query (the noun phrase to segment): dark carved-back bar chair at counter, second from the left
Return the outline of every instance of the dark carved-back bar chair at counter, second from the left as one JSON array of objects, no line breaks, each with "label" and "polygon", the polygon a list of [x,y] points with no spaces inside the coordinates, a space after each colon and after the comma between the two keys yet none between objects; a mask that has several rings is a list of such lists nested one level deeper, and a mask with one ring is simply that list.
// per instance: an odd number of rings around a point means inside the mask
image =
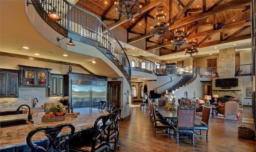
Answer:
[{"label": "dark carved-back bar chair at counter, second from the left", "polygon": [[72,152],[110,152],[110,131],[114,126],[114,114],[99,116],[94,122],[93,137],[74,143]]}]

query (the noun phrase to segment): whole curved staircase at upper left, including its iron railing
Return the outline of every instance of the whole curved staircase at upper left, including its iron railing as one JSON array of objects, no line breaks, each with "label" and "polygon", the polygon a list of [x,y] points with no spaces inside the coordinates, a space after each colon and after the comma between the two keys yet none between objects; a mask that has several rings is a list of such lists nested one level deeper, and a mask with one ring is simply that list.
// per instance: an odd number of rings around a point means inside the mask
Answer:
[{"label": "whole curved staircase at upper left, including its iron railing", "polygon": [[[32,0],[32,2],[36,4],[34,5],[36,11],[49,26],[65,37],[69,36],[76,41],[96,47],[118,67],[131,85],[130,62],[125,50],[100,18],[66,0],[44,0],[49,4],[59,4],[56,10],[66,8],[57,12],[59,16],[62,16],[61,21],[49,22],[46,20],[48,10],[44,7],[42,0]],[[78,17],[74,18],[74,16]]]}]

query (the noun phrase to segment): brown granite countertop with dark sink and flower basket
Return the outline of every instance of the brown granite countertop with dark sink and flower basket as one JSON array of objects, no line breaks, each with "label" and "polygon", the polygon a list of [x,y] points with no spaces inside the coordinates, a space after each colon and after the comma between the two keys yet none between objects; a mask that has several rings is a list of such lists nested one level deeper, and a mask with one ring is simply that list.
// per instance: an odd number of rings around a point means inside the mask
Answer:
[{"label": "brown granite countertop with dark sink and flower basket", "polygon": [[[41,126],[55,126],[62,123],[71,123],[75,126],[75,132],[80,132],[82,130],[92,128],[96,118],[99,116],[108,114],[108,112],[96,108],[74,109],[74,113],[78,112],[80,114],[78,114],[77,117],[72,117],[74,115],[68,114],[65,120],[54,122],[42,122],[42,116],[45,114],[44,112],[33,113],[32,116],[34,124],[0,128],[0,150],[26,145],[26,135],[34,128]],[[0,116],[1,121],[23,118],[28,118],[28,114]],[[41,140],[44,139],[41,138]]]}]

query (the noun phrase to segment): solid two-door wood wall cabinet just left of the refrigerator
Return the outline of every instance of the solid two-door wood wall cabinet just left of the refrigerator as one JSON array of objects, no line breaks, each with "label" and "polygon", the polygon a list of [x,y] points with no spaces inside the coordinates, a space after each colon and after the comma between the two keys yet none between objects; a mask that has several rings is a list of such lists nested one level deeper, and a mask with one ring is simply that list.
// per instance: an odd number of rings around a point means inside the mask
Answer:
[{"label": "solid two-door wood wall cabinet just left of the refrigerator", "polygon": [[51,74],[49,96],[64,96],[64,76]]}]

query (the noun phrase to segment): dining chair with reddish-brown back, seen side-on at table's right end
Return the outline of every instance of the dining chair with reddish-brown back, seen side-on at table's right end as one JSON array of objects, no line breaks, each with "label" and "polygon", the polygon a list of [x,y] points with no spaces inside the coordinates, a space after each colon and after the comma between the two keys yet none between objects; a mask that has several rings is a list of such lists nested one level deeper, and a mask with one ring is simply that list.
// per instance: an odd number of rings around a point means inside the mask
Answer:
[{"label": "dining chair with reddish-brown back, seen side-on at table's right end", "polygon": [[[212,113],[212,105],[204,104],[203,111],[202,111],[202,119],[200,124],[195,124],[195,136],[205,136],[206,140],[208,140],[209,136],[209,126],[210,126],[210,119]],[[196,130],[200,130],[200,134],[196,132]],[[206,130],[206,134],[202,134],[202,130]]]}]

